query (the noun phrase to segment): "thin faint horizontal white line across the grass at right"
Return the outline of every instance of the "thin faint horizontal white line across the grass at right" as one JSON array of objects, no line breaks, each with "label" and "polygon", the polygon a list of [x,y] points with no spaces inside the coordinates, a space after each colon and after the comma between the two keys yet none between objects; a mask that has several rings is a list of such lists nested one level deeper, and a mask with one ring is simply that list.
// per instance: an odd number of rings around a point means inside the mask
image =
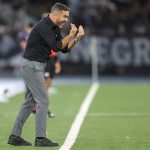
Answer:
[{"label": "thin faint horizontal white line across the grass at right", "polygon": [[126,112],[126,113],[88,113],[87,116],[98,117],[149,117],[150,113]]}]

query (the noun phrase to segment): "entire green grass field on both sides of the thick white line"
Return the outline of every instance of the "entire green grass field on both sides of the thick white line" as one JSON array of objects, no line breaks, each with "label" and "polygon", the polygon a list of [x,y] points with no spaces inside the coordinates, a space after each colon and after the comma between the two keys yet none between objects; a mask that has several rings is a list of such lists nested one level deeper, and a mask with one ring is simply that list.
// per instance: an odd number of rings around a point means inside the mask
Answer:
[{"label": "entire green grass field on both sides of the thick white line", "polygon": [[[52,95],[56,114],[47,122],[47,137],[64,143],[71,124],[90,85],[59,85]],[[23,94],[0,104],[0,150],[59,148],[14,147],[7,139],[15,121]],[[34,144],[34,115],[23,128],[22,137]],[[150,85],[101,84],[81,126],[72,150],[150,150]]]}]

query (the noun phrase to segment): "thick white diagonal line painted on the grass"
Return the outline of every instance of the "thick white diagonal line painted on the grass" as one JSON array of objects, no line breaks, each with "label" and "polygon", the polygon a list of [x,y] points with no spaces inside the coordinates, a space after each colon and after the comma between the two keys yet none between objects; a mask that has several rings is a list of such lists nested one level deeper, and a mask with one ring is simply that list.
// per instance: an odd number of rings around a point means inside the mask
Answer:
[{"label": "thick white diagonal line painted on the grass", "polygon": [[82,125],[82,122],[84,120],[84,117],[86,116],[88,109],[90,107],[90,104],[98,90],[99,84],[98,83],[94,83],[92,84],[91,88],[88,91],[87,96],[85,97],[80,110],[69,130],[69,133],[65,139],[64,144],[60,147],[59,150],[70,150],[71,147],[73,146],[73,144],[76,141],[76,138],[78,136],[78,133],[80,131],[80,127]]}]

